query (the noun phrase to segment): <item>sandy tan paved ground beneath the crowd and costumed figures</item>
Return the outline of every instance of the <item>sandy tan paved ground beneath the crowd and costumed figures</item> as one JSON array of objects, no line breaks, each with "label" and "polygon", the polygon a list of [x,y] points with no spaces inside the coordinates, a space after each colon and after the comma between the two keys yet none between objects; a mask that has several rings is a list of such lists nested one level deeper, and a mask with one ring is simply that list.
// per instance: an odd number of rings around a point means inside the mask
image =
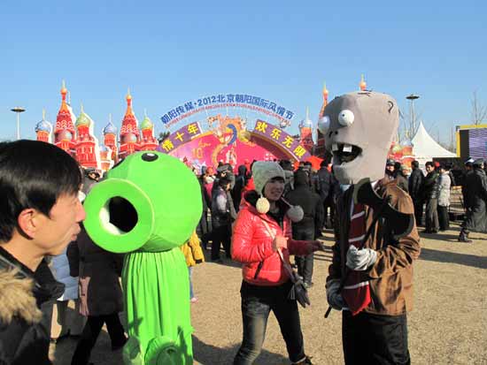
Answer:
[{"label": "sandy tan paved ground beneath the crowd and costumed figures", "polygon": [[[457,241],[459,232],[458,224],[452,224],[446,232],[421,233],[421,257],[414,262],[414,310],[408,315],[414,364],[487,364],[487,234],[471,233],[474,243],[463,244]],[[332,232],[324,232],[322,240],[327,250],[315,255],[312,305],[300,308],[305,352],[313,356],[314,364],[343,364],[341,314],[332,311],[324,318]],[[205,262],[194,269],[198,298],[191,304],[195,364],[232,363],[242,341],[241,282],[237,262]],[[74,339],[51,345],[54,364],[70,364],[75,345]],[[90,361],[122,364],[120,351],[111,351],[105,328]],[[271,315],[264,348],[255,364],[289,363],[279,326]]]}]

